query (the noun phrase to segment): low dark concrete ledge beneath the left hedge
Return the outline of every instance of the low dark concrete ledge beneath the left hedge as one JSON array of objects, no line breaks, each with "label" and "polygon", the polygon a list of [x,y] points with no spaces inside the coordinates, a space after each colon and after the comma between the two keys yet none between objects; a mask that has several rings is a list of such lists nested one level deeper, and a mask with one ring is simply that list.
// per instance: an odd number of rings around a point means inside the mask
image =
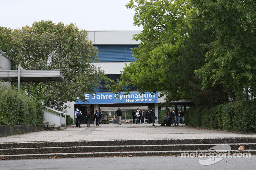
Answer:
[{"label": "low dark concrete ledge beneath the left hedge", "polygon": [[32,131],[42,131],[44,126],[29,126],[29,125],[16,125],[16,126],[0,126],[0,136],[7,136],[10,134],[21,134],[28,133]]}]

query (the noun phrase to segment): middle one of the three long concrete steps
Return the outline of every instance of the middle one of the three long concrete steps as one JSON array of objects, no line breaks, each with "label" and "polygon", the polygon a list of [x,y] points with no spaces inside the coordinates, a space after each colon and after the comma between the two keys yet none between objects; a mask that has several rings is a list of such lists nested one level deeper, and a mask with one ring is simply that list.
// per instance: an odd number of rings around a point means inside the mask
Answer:
[{"label": "middle one of the three long concrete steps", "polygon": [[[79,153],[79,152],[145,152],[145,151],[202,151],[220,144],[170,144],[170,145],[119,145],[119,146],[68,146],[41,148],[0,149],[1,155],[41,154],[41,153]],[[223,144],[222,144],[223,145]],[[226,145],[226,144],[225,144]],[[256,144],[228,144],[231,150],[237,150],[244,145],[247,150],[256,149]]]}]

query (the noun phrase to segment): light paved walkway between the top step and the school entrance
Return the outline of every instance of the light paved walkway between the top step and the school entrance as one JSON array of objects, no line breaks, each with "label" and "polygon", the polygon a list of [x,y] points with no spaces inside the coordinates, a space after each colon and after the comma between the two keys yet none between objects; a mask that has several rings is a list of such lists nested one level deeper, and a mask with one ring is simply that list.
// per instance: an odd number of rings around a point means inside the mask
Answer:
[{"label": "light paved walkway between the top step and the school entrance", "polygon": [[40,141],[94,141],[94,140],[133,140],[133,139],[191,139],[191,138],[234,138],[256,137],[256,134],[208,130],[189,126],[160,126],[152,124],[102,124],[98,127],[70,125],[63,130],[44,130],[20,135],[0,137],[0,143],[40,142]]}]

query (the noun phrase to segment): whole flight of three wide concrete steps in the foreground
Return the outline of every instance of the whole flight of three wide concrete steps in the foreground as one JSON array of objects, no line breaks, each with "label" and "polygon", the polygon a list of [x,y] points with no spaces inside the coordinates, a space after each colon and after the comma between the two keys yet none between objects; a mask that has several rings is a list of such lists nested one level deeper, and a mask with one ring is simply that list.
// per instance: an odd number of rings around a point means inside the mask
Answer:
[{"label": "whole flight of three wide concrete steps in the foreground", "polygon": [[[244,151],[238,151],[243,145]],[[223,147],[221,147],[223,146]],[[216,152],[256,154],[256,138],[198,138],[166,140],[107,140],[76,142],[0,143],[1,159],[46,159],[125,156],[180,156]],[[201,155],[202,156],[202,155]]]}]

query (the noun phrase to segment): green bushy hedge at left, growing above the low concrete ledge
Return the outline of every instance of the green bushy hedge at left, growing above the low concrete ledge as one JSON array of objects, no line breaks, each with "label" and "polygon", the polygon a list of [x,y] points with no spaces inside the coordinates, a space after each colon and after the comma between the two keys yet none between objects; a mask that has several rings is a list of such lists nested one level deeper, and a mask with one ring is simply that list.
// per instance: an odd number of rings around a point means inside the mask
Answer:
[{"label": "green bushy hedge at left, growing above the low concrete ledge", "polygon": [[43,126],[44,113],[39,101],[25,92],[0,86],[0,125]]}]

